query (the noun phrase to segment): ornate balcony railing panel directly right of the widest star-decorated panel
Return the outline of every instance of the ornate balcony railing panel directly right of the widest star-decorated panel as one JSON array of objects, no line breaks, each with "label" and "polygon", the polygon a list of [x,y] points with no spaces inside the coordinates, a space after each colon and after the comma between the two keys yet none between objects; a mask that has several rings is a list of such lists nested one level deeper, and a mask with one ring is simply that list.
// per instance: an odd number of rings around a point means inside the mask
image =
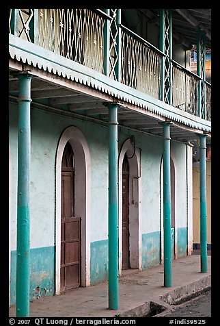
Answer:
[{"label": "ornate balcony railing panel directly right of the widest star-decorated panel", "polygon": [[160,99],[160,51],[137,34],[122,27],[122,84]]}]

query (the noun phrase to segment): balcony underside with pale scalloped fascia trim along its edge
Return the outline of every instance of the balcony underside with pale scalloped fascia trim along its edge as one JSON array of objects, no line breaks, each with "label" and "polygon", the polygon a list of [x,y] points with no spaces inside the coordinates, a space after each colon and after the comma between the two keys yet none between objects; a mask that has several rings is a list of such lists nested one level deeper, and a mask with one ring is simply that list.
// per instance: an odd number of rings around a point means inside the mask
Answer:
[{"label": "balcony underside with pale scalloped fascia trim along its edge", "polygon": [[162,136],[160,123],[172,121],[171,138],[175,140],[194,140],[201,133],[210,136],[210,121],[10,35],[11,101],[18,97],[18,79],[13,75],[16,71],[33,75],[32,108],[107,124],[108,110],[103,102],[115,101],[121,104],[118,121],[122,127]]}]

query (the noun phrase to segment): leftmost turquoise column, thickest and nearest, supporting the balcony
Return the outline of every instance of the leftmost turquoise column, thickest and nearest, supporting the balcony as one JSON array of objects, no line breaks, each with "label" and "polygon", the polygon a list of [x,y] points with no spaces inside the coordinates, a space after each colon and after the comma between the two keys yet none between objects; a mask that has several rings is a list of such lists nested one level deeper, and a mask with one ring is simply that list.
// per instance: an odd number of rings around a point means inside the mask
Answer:
[{"label": "leftmost turquoise column, thickest and nearest, supporting the balcony", "polygon": [[29,317],[29,170],[31,144],[31,76],[17,75],[18,94],[18,207],[16,249],[16,316]]}]

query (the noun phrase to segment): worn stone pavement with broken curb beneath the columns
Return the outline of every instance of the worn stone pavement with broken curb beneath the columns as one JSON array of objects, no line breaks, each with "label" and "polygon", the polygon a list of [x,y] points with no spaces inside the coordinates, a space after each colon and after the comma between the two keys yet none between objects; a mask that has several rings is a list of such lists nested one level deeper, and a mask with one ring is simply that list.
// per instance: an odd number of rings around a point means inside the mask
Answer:
[{"label": "worn stone pavement with broken curb beneath the columns", "polygon": [[[105,282],[35,300],[30,303],[30,316],[165,316],[172,310],[172,303],[211,287],[211,256],[208,255],[208,273],[200,272],[200,255],[173,260],[172,283],[171,288],[163,286],[163,265],[143,271],[129,269],[120,276],[118,310],[108,308],[108,283]],[[15,306],[10,307],[9,316],[15,316]]]}]

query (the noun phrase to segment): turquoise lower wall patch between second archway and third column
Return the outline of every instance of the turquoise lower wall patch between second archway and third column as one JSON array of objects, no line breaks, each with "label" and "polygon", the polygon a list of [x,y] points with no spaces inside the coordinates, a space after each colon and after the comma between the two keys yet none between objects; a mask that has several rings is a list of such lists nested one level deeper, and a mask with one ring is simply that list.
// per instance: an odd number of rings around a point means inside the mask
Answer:
[{"label": "turquoise lower wall patch between second archway and third column", "polygon": [[142,234],[142,268],[159,265],[161,261],[161,231]]}]

